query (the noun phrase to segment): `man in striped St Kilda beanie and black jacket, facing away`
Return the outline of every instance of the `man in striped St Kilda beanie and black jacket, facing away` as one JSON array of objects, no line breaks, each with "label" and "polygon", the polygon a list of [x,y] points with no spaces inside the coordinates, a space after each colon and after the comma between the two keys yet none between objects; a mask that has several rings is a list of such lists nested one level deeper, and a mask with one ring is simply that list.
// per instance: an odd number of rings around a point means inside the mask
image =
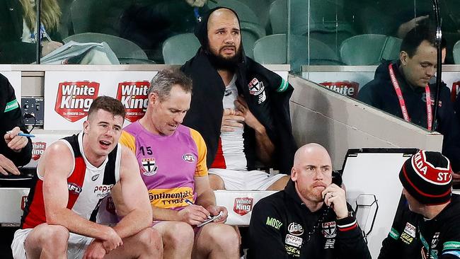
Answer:
[{"label": "man in striped St Kilda beanie and black jacket, facing away", "polygon": [[449,159],[420,150],[402,166],[403,185],[389,236],[379,259],[460,258],[460,196],[452,193]]}]

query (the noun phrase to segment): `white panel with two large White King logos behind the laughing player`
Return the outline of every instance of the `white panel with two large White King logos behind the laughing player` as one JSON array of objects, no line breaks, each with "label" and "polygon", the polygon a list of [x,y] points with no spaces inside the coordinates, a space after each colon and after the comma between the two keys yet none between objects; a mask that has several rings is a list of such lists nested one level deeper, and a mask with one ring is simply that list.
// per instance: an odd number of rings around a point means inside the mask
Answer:
[{"label": "white panel with two large White King logos behind the laughing player", "polygon": [[144,115],[147,90],[156,71],[47,71],[46,130],[79,130],[98,96],[118,98],[125,105],[125,125]]}]

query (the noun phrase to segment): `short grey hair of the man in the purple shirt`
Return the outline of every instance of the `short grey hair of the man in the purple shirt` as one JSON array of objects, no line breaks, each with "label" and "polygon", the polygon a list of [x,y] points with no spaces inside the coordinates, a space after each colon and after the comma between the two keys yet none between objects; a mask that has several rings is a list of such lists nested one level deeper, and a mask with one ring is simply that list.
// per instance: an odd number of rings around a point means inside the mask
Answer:
[{"label": "short grey hair of the man in the purple shirt", "polygon": [[178,85],[185,93],[192,92],[192,79],[179,69],[164,69],[159,71],[150,81],[150,93],[158,94],[160,101],[171,96],[171,88]]}]

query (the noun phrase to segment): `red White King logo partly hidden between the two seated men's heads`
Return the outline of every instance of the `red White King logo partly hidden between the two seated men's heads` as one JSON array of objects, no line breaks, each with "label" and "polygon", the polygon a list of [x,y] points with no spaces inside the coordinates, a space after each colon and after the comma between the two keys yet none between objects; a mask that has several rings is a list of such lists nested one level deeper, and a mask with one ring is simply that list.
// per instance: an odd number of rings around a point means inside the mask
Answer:
[{"label": "red White King logo partly hidden between the two seated men's heads", "polygon": [[149,81],[127,81],[118,84],[117,99],[126,110],[126,120],[135,122],[144,116],[148,105]]}]

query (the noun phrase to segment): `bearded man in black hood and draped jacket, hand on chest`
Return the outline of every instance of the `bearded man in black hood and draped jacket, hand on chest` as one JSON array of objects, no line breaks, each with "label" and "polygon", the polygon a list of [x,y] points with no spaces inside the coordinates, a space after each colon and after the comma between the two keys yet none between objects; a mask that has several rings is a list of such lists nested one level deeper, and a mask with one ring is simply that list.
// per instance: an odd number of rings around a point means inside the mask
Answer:
[{"label": "bearded man in black hood and draped jacket, hand on chest", "polygon": [[209,10],[195,35],[201,47],[180,68],[193,81],[183,125],[205,139],[212,188],[282,190],[297,149],[289,117],[294,88],[246,57],[235,11]]}]

